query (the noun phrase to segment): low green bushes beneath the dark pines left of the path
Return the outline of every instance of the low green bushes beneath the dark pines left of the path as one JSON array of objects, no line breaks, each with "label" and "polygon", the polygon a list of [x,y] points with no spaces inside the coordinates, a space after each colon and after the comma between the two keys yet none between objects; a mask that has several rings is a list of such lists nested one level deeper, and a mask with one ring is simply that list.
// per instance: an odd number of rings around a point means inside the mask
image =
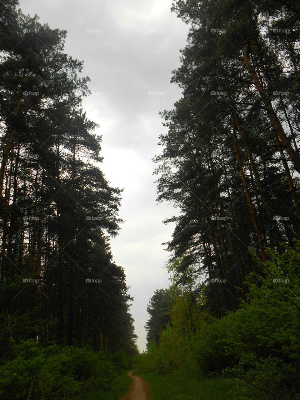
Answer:
[{"label": "low green bushes beneath the dark pines left of the path", "polygon": [[108,357],[76,347],[41,348],[34,340],[13,345],[14,358],[0,366],[0,398],[71,399],[90,390],[108,391],[118,377]]}]

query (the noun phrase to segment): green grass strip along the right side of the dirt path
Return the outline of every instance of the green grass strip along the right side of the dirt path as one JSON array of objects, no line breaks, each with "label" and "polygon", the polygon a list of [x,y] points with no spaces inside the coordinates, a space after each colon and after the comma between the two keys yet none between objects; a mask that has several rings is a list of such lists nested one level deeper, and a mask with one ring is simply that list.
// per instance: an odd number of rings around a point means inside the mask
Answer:
[{"label": "green grass strip along the right side of the dirt path", "polygon": [[150,386],[150,400],[238,400],[228,382],[218,378],[184,376],[179,372],[158,375],[134,371]]}]

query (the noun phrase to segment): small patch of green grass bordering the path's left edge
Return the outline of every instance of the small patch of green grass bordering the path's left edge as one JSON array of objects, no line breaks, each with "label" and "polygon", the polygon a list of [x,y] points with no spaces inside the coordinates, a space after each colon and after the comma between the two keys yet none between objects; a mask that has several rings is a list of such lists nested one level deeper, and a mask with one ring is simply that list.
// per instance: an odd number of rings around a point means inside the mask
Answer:
[{"label": "small patch of green grass bordering the path's left edge", "polygon": [[80,397],[74,400],[119,400],[128,391],[131,378],[122,373],[115,381],[113,390],[109,392],[99,392],[98,390],[82,393]]}]

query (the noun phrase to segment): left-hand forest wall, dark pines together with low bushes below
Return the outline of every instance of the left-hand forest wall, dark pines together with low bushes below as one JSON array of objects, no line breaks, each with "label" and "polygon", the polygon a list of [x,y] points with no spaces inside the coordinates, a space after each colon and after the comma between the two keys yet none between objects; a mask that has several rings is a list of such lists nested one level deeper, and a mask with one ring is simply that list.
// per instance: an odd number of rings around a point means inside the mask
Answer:
[{"label": "left-hand forest wall, dark pines together with low bushes below", "polygon": [[121,190],[99,166],[101,137],[82,109],[89,78],[65,38],[18,1],[0,2],[3,399],[109,391],[136,354],[132,298],[109,244]]}]

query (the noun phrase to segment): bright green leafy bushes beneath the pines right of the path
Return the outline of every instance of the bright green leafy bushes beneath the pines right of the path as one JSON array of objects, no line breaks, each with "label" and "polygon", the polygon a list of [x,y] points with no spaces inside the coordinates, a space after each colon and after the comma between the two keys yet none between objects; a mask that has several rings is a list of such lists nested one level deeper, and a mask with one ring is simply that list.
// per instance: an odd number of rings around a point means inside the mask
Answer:
[{"label": "bright green leafy bushes beneath the pines right of the path", "polygon": [[268,274],[258,262],[260,273],[250,273],[245,281],[246,301],[221,319],[207,311],[205,292],[195,298],[187,286],[170,286],[175,298],[170,324],[158,343],[153,338],[148,344],[138,368],[222,376],[232,399],[300,398],[300,307],[295,300],[300,298],[300,241],[282,254],[272,249],[266,254]]}]

